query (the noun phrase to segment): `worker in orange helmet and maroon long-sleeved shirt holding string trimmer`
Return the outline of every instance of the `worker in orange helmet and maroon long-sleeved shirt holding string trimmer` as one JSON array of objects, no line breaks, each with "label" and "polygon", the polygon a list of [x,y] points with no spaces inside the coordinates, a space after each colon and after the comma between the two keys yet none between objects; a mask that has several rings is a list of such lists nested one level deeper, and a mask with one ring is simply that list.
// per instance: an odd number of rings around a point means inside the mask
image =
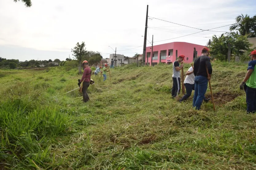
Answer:
[{"label": "worker in orange helmet and maroon long-sleeved shirt holding string trimmer", "polygon": [[90,100],[90,98],[87,94],[87,89],[90,85],[90,80],[91,80],[91,68],[88,65],[88,61],[86,61],[86,60],[83,61],[83,68],[84,68],[83,77],[81,78],[78,85],[80,86],[80,84],[83,82],[83,87],[82,87],[83,102],[87,102],[88,100]]}]

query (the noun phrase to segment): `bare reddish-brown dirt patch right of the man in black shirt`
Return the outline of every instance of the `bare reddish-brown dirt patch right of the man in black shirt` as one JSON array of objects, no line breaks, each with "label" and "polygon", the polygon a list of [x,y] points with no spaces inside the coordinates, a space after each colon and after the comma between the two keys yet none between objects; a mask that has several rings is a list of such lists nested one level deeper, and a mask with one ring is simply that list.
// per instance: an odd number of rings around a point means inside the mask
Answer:
[{"label": "bare reddish-brown dirt patch right of the man in black shirt", "polygon": [[[234,100],[236,97],[240,96],[240,93],[227,93],[227,92],[217,92],[213,93],[214,103],[218,105],[223,105]],[[206,98],[211,99],[211,95],[206,95]]]}]

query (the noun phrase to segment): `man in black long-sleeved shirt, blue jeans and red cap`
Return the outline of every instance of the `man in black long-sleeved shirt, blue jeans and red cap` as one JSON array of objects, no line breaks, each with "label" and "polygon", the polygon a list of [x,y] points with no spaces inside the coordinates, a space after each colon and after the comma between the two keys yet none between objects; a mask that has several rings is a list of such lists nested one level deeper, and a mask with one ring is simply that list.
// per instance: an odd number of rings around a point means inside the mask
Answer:
[{"label": "man in black long-sleeved shirt, blue jeans and red cap", "polygon": [[[208,68],[209,77],[207,76],[206,67]],[[204,47],[202,55],[194,62],[195,74],[195,94],[193,99],[193,107],[199,110],[204,100],[204,95],[207,90],[208,80],[211,80],[211,60],[209,58],[209,49]]]}]

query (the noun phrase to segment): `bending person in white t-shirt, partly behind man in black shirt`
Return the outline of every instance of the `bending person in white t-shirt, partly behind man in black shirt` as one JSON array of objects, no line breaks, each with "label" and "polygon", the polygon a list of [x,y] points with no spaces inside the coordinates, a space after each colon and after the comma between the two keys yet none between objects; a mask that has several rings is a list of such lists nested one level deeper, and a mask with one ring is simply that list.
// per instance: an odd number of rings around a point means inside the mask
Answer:
[{"label": "bending person in white t-shirt, partly behind man in black shirt", "polygon": [[[186,94],[180,99],[180,102],[188,99],[191,96],[192,90],[195,90],[195,74],[193,67],[190,67],[186,72],[186,78],[184,80],[184,85],[186,88]],[[205,99],[204,102],[208,102],[210,99]]]}]

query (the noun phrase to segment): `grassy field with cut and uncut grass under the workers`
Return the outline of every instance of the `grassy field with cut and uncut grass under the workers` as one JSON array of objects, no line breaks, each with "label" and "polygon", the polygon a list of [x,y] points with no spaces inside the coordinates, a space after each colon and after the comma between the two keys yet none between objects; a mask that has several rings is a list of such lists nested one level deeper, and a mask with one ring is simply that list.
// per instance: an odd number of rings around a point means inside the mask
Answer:
[{"label": "grassy field with cut and uncut grass under the workers", "polygon": [[239,90],[247,67],[212,65],[215,112],[171,98],[171,65],[92,76],[87,103],[58,97],[78,87],[77,69],[1,70],[0,169],[256,169],[256,115]]}]

